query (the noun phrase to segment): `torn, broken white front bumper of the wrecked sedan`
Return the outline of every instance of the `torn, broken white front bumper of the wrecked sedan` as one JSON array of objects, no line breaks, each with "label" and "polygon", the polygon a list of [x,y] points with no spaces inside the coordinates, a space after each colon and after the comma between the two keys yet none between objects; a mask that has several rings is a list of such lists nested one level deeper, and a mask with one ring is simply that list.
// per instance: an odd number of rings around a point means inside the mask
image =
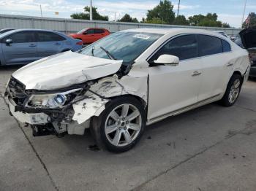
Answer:
[{"label": "torn, broken white front bumper of the wrecked sedan", "polygon": [[99,116],[108,100],[98,96],[91,96],[72,105],[72,109],[43,111],[45,109],[29,109],[19,106],[10,95],[5,96],[10,114],[19,122],[37,126],[38,128],[51,127],[53,133],[67,132],[69,135],[83,135],[84,130],[90,127],[92,116]]}]

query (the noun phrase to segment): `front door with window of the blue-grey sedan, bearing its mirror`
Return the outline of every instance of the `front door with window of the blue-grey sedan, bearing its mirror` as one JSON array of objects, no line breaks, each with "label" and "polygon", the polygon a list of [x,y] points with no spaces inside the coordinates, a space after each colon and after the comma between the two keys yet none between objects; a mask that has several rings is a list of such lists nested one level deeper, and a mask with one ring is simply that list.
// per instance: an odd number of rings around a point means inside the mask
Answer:
[{"label": "front door with window of the blue-grey sedan, bearing its mirror", "polygon": [[[11,39],[12,43],[6,44]],[[34,31],[20,31],[2,39],[2,50],[6,64],[25,64],[38,59]]]}]

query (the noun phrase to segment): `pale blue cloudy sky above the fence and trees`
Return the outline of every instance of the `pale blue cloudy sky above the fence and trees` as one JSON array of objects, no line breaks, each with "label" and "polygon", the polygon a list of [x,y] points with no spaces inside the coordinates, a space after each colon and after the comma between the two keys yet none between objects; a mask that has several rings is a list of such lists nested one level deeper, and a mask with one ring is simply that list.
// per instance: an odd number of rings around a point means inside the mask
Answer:
[{"label": "pale blue cloudy sky above the fence and trees", "polygon": [[[245,0],[181,0],[179,15],[206,15],[216,12],[218,20],[229,23],[233,27],[241,27]],[[40,16],[42,7],[43,17],[69,18],[72,13],[83,12],[83,7],[89,5],[89,0],[0,0],[0,14]],[[159,0],[93,0],[93,6],[98,8],[101,15],[108,15],[114,20],[128,13],[141,20],[146,17],[148,9],[159,4]],[[177,12],[178,0],[173,0],[174,11]],[[55,15],[59,12],[59,15]],[[244,20],[249,12],[256,12],[256,1],[247,0]]]}]

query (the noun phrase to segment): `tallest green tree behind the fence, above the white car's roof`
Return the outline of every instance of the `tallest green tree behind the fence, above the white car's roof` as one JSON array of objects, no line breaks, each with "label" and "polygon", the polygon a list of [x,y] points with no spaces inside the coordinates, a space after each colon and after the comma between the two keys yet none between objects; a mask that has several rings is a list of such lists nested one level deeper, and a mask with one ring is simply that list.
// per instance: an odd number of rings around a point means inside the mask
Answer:
[{"label": "tallest green tree behind the fence, above the white car's roof", "polygon": [[146,23],[152,23],[153,21],[172,24],[175,19],[175,12],[173,12],[173,5],[169,0],[161,0],[157,7],[148,10]]}]

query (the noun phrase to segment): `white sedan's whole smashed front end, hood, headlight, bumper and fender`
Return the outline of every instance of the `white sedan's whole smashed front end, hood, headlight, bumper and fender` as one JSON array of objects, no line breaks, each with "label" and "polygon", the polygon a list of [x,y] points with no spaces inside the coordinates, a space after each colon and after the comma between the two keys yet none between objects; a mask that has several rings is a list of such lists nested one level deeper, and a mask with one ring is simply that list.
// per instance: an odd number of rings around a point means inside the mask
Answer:
[{"label": "white sedan's whole smashed front end, hood, headlight, bumper and fender", "polygon": [[31,63],[15,71],[5,98],[10,114],[31,125],[34,135],[83,135],[92,117],[120,95],[147,101],[148,72],[123,61],[67,52]]}]

